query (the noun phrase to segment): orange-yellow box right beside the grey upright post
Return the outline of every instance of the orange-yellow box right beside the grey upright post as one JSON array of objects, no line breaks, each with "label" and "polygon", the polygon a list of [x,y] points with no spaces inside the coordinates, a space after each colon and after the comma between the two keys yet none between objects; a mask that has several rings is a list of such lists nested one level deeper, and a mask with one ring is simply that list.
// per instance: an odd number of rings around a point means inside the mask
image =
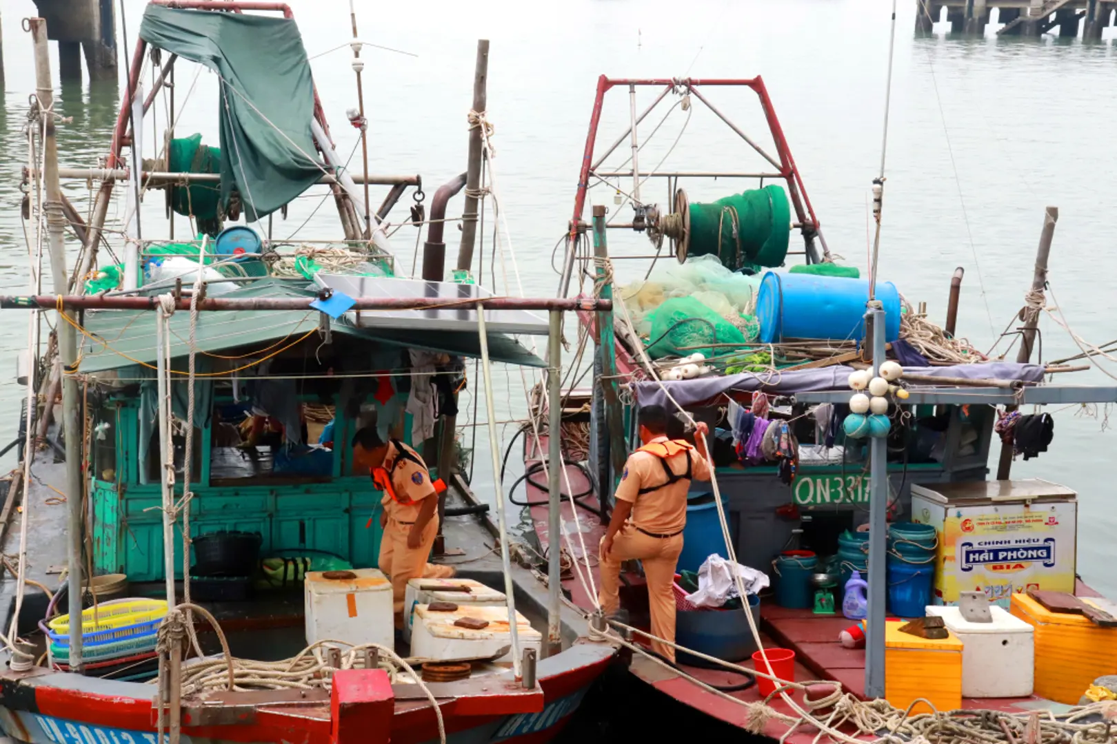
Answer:
[{"label": "orange-yellow box right beside the grey upright post", "polygon": [[[962,707],[962,641],[953,632],[942,639],[900,631],[903,622],[885,624],[885,697],[900,709],[918,697],[941,713]],[[925,704],[909,715],[932,713]]]}]

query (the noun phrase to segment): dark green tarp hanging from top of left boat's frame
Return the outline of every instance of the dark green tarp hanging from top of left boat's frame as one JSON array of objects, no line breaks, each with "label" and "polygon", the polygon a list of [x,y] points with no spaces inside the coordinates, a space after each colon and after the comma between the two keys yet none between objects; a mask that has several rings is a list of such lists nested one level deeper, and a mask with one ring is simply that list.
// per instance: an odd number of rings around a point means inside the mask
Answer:
[{"label": "dark green tarp hanging from top of left boat's frame", "polygon": [[220,76],[222,207],[236,186],[252,222],[317,182],[314,83],[294,20],[150,4],[140,38]]}]

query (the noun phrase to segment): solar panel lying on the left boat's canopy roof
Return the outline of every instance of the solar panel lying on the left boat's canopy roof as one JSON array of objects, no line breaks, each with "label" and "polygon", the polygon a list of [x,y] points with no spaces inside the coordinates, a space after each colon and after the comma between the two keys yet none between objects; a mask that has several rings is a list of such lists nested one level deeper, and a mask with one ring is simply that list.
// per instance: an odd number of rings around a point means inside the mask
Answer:
[{"label": "solar panel lying on the left boat's canopy roof", "polygon": [[[477,308],[469,300],[493,297],[477,284],[422,279],[315,274],[315,282],[352,298],[437,298],[462,301],[461,307],[422,310],[350,310],[349,320],[359,328],[413,328],[416,330],[477,331]],[[499,334],[546,336],[547,319],[526,310],[486,310],[486,329]]]}]

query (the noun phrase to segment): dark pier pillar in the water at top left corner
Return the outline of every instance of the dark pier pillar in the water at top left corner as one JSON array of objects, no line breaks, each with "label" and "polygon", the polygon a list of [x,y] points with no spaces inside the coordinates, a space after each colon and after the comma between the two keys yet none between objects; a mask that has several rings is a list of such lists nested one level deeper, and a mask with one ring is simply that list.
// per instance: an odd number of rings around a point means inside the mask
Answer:
[{"label": "dark pier pillar in the water at top left corner", "polygon": [[[116,77],[114,0],[35,0],[35,4],[47,21],[50,40],[58,42],[59,79],[82,79],[83,54],[90,80]],[[0,80],[2,68],[0,57]]]}]

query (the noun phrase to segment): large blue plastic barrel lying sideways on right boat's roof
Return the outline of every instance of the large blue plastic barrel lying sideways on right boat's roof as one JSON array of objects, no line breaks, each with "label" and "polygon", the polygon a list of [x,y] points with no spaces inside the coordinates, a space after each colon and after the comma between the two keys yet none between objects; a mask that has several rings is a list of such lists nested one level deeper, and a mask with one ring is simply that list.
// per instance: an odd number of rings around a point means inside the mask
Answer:
[{"label": "large blue plastic barrel lying sideways on right boat's roof", "polygon": [[[877,282],[877,299],[885,303],[887,341],[900,336],[900,293],[890,281]],[[756,294],[760,340],[783,338],[865,338],[865,303],[869,280],[768,271]]]}]

